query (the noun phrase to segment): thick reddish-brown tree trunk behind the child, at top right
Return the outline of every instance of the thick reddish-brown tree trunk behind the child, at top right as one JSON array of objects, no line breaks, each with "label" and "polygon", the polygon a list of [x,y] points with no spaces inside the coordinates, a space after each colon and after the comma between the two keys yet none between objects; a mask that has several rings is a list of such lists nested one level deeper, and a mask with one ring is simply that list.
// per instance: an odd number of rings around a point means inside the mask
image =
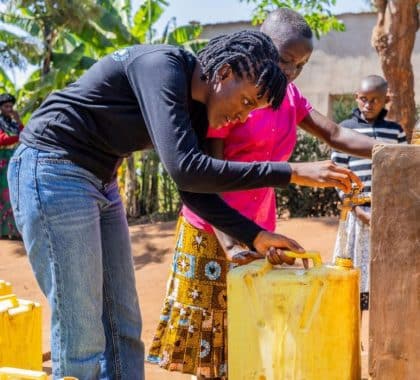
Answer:
[{"label": "thick reddish-brown tree trunk behind the child, at top right", "polygon": [[419,28],[419,0],[375,0],[378,19],[372,45],[379,54],[391,98],[388,118],[410,138],[416,113],[411,54]]}]

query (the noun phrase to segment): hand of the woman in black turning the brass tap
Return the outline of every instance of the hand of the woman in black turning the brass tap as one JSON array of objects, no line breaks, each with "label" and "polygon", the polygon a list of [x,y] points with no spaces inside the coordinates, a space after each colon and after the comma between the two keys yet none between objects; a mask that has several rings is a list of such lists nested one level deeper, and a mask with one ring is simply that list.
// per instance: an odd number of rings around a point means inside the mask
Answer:
[{"label": "hand of the woman in black turning the brass tap", "polygon": [[292,168],[291,183],[300,186],[337,187],[345,193],[352,189],[355,183],[360,189],[362,181],[351,170],[340,167],[332,161],[290,163]]}]

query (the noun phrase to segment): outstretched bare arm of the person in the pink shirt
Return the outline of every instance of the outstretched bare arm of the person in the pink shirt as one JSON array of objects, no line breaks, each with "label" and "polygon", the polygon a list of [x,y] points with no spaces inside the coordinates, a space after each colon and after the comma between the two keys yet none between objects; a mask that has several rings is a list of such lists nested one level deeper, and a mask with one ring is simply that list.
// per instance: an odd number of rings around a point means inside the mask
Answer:
[{"label": "outstretched bare arm of the person in the pink shirt", "polygon": [[349,128],[340,127],[316,110],[309,112],[299,126],[336,150],[357,157],[372,157],[375,139]]}]

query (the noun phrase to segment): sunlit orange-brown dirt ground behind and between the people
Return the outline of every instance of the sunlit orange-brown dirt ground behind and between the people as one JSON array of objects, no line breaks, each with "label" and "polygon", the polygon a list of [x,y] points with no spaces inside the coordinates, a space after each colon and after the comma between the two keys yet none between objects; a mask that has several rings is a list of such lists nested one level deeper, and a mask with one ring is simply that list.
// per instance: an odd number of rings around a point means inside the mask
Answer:
[{"label": "sunlit orange-brown dirt ground behind and between the people", "polygon": [[[321,252],[324,261],[329,261],[337,231],[337,219],[313,218],[290,219],[278,222],[277,231],[294,238],[308,250]],[[174,245],[174,222],[135,225],[130,227],[133,244],[137,291],[143,315],[143,340],[149,347],[159,318],[161,302]],[[0,279],[13,285],[19,298],[39,301],[44,307],[43,351],[49,351],[50,312],[45,297],[39,290],[29,266],[21,242],[0,240]],[[363,377],[367,377],[367,328],[362,331]],[[45,362],[50,372],[50,362]],[[168,373],[157,366],[146,364],[147,380],[186,380],[190,376]]]}]

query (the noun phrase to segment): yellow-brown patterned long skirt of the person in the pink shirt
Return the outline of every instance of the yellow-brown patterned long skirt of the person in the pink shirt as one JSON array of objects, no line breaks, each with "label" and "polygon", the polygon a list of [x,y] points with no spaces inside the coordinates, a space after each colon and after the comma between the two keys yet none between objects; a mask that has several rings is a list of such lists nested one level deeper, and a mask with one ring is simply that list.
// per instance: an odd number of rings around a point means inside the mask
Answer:
[{"label": "yellow-brown patterned long skirt of the person in the pink shirt", "polygon": [[229,267],[215,235],[193,227],[181,217],[149,362],[169,371],[226,378]]}]

